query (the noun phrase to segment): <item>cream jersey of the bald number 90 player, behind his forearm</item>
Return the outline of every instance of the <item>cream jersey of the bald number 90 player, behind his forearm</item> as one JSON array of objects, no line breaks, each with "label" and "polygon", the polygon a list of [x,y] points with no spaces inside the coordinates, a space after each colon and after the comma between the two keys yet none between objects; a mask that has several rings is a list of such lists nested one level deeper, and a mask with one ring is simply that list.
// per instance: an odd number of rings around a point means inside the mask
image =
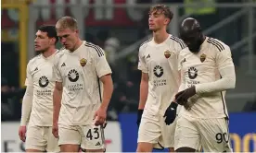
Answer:
[{"label": "cream jersey of the bald number 90 player, behind his forearm", "polygon": [[[179,56],[179,69],[186,88],[214,82],[221,78],[219,70],[234,66],[229,47],[224,42],[207,37],[198,53],[185,51]],[[180,114],[194,118],[228,117],[225,91],[196,94],[188,99],[191,110],[182,107]]]}]

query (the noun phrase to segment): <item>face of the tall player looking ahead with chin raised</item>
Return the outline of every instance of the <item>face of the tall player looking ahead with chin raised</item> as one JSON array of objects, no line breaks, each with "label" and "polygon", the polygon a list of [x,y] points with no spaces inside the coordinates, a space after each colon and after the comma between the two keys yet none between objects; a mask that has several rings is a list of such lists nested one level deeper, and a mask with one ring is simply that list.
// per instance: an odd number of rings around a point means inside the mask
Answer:
[{"label": "face of the tall player looking ahead with chin raised", "polygon": [[164,14],[160,10],[153,11],[149,13],[148,18],[148,27],[153,31],[157,31],[162,29],[166,25],[168,25],[169,19],[165,18]]}]

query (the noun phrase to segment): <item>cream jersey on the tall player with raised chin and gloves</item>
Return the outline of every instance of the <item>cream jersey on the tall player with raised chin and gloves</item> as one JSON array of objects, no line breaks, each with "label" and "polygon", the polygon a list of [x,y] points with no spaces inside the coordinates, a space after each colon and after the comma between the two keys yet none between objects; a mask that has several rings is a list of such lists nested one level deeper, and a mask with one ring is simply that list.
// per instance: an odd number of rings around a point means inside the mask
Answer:
[{"label": "cream jersey on the tall player with raised chin and gloves", "polygon": [[186,44],[173,35],[160,44],[146,41],[139,48],[138,69],[149,76],[145,112],[163,115],[174,99],[179,88],[178,54],[183,49]]}]

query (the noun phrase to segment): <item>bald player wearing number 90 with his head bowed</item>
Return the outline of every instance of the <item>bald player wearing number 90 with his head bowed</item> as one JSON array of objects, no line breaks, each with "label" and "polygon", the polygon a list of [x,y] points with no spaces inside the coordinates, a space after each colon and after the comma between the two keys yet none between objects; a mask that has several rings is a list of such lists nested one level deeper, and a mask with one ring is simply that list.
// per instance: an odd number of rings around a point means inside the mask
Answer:
[{"label": "bald player wearing number 90 with his head bowed", "polygon": [[189,51],[179,55],[181,88],[175,95],[182,107],[175,129],[175,150],[232,152],[228,132],[225,90],[235,88],[236,74],[230,48],[205,36],[195,18],[186,18],[180,38]]}]

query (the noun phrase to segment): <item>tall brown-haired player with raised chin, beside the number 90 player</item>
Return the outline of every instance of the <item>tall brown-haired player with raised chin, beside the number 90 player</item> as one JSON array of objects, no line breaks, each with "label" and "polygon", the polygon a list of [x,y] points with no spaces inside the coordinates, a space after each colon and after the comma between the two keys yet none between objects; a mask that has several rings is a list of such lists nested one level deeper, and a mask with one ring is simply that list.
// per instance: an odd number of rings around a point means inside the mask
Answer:
[{"label": "tall brown-haired player with raised chin, beside the number 90 player", "polygon": [[[166,125],[164,117],[178,92],[178,54],[186,49],[186,44],[167,33],[172,18],[173,12],[167,6],[152,6],[148,26],[153,31],[153,39],[142,43],[139,48],[138,69],[142,76],[137,152],[151,152],[153,148],[164,147],[173,152],[175,124]],[[176,110],[177,105],[172,103],[171,107]]]}]

